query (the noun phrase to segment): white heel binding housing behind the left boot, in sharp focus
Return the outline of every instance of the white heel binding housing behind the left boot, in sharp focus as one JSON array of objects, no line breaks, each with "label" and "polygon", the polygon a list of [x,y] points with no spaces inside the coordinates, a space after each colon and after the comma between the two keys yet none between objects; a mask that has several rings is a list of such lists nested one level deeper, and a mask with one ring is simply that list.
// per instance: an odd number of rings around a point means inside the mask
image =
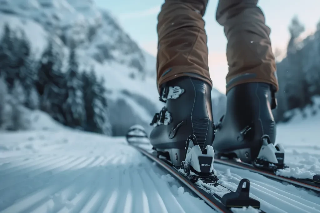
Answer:
[{"label": "white heel binding housing behind the left boot, in sharp focus", "polygon": [[[191,145],[192,144],[192,145]],[[206,148],[206,154],[202,154],[201,148],[199,145],[193,146],[193,143],[189,143],[187,155],[185,161],[189,163],[192,168],[198,172],[201,172],[200,163],[199,163],[199,156],[200,157],[212,157],[212,161],[208,162],[207,164],[202,164],[202,166],[210,166],[209,172],[211,173],[213,170],[213,159],[214,159],[214,151],[213,147],[210,145],[207,145]]]}]

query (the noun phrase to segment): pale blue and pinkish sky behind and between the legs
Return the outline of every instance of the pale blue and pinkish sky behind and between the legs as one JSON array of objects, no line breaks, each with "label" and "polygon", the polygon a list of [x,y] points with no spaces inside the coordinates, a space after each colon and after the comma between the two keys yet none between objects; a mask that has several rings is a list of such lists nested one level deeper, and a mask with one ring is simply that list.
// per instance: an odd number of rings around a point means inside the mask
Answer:
[{"label": "pale blue and pinkish sky behind and between the legs", "polygon": [[[95,0],[103,8],[111,11],[124,30],[140,47],[156,56],[157,14],[164,0]],[[228,72],[226,61],[227,40],[223,28],[216,22],[215,13],[218,0],[209,0],[204,20],[208,35],[209,68],[214,87],[225,92],[225,77]],[[271,28],[273,48],[285,49],[288,39],[288,25],[294,15],[305,24],[306,33],[316,29],[320,19],[320,0],[260,0],[259,5]]]}]

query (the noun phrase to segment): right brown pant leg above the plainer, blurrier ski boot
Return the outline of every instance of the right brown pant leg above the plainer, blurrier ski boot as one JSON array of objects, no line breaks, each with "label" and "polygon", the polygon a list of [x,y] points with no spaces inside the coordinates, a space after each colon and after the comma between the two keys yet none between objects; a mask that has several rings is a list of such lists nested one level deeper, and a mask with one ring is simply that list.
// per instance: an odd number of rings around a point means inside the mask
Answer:
[{"label": "right brown pant leg above the plainer, blurrier ski boot", "polygon": [[220,0],[216,19],[228,39],[227,92],[248,82],[265,82],[278,91],[275,57],[271,50],[270,28],[257,6],[258,0]]}]

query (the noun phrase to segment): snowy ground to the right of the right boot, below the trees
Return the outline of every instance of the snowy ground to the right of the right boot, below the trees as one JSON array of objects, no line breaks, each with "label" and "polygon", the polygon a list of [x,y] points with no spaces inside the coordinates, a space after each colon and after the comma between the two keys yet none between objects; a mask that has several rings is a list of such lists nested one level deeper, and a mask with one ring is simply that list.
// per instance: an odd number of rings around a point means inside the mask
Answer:
[{"label": "snowy ground to the right of the right boot, below the trees", "polygon": [[[278,174],[297,178],[311,178],[320,174],[319,102],[320,98],[316,98],[315,106],[304,110],[307,118],[296,112],[296,116],[286,125],[278,125],[276,141],[284,145],[287,153],[285,163],[290,166]],[[314,111],[316,115],[312,115]]]}]

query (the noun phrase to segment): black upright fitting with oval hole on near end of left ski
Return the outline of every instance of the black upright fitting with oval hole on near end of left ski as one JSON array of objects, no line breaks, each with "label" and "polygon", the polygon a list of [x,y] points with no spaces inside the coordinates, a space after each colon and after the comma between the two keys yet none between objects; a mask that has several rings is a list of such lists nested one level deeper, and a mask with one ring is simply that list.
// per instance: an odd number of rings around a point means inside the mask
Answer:
[{"label": "black upright fitting with oval hole on near end of left ski", "polygon": [[228,208],[253,207],[260,209],[260,202],[249,197],[250,180],[242,179],[235,192],[223,195],[222,203]]}]

